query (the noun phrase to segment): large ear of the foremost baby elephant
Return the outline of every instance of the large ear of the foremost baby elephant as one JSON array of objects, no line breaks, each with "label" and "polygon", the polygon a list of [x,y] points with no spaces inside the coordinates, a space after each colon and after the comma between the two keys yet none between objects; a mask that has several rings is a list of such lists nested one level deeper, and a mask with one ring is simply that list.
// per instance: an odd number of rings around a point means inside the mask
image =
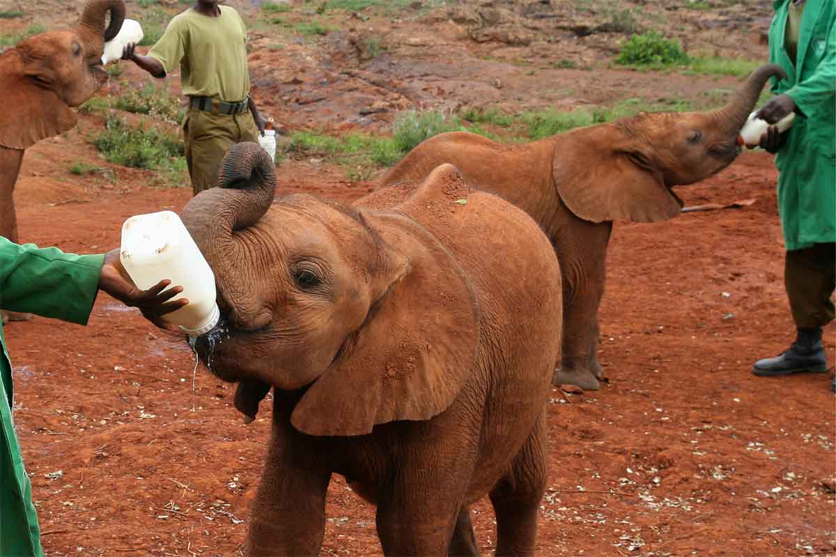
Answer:
[{"label": "large ear of the foremost baby elephant", "polygon": [[[364,435],[448,408],[476,362],[477,298],[451,253],[414,220],[378,214],[380,297],[293,410],[308,435]],[[382,271],[380,271],[382,269]]]}]

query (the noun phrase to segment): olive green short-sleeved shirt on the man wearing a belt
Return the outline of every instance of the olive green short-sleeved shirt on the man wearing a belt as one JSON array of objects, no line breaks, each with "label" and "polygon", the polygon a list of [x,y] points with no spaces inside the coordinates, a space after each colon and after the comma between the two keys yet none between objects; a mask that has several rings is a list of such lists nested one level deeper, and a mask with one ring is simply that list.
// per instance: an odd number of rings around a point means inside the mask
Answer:
[{"label": "olive green short-sleeved shirt on the man wearing a belt", "polygon": [[166,73],[180,66],[183,94],[237,103],[250,93],[247,29],[234,8],[218,8],[217,18],[193,8],[176,15],[148,55]]}]

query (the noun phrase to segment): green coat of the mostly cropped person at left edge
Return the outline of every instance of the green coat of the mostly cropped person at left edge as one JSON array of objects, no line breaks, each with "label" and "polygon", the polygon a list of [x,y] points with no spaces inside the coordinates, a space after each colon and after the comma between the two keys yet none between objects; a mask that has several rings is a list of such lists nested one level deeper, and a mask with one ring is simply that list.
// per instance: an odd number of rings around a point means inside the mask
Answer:
[{"label": "green coat of the mostly cropped person at left edge", "polygon": [[[18,246],[0,236],[0,308],[87,323],[104,256]],[[12,418],[12,365],[0,324],[0,555],[41,557],[32,489]]]}]

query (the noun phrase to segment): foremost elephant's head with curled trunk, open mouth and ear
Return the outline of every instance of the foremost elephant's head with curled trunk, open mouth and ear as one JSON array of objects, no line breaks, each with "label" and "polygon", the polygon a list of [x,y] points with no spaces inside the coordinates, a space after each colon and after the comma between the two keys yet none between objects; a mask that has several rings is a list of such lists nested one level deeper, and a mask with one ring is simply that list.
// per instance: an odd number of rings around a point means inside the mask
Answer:
[{"label": "foremost elephant's head with curled trunk, open mouth and ear", "polygon": [[240,383],[239,410],[253,418],[270,386],[301,390],[294,427],[359,435],[452,403],[476,357],[478,310],[441,243],[394,211],[308,195],[273,203],[275,167],[257,144],[233,146],[218,186],[181,216],[215,271],[222,310],[196,350],[217,377]]}]

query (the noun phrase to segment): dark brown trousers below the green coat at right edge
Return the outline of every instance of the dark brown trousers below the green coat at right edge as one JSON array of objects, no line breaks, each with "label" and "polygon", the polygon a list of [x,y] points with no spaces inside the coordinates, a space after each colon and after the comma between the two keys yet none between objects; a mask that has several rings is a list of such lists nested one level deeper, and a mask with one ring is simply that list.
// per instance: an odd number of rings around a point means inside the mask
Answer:
[{"label": "dark brown trousers below the green coat at right edge", "polygon": [[832,297],[836,288],[836,243],[788,251],[784,286],[796,327],[817,329],[832,322],[836,316]]}]

